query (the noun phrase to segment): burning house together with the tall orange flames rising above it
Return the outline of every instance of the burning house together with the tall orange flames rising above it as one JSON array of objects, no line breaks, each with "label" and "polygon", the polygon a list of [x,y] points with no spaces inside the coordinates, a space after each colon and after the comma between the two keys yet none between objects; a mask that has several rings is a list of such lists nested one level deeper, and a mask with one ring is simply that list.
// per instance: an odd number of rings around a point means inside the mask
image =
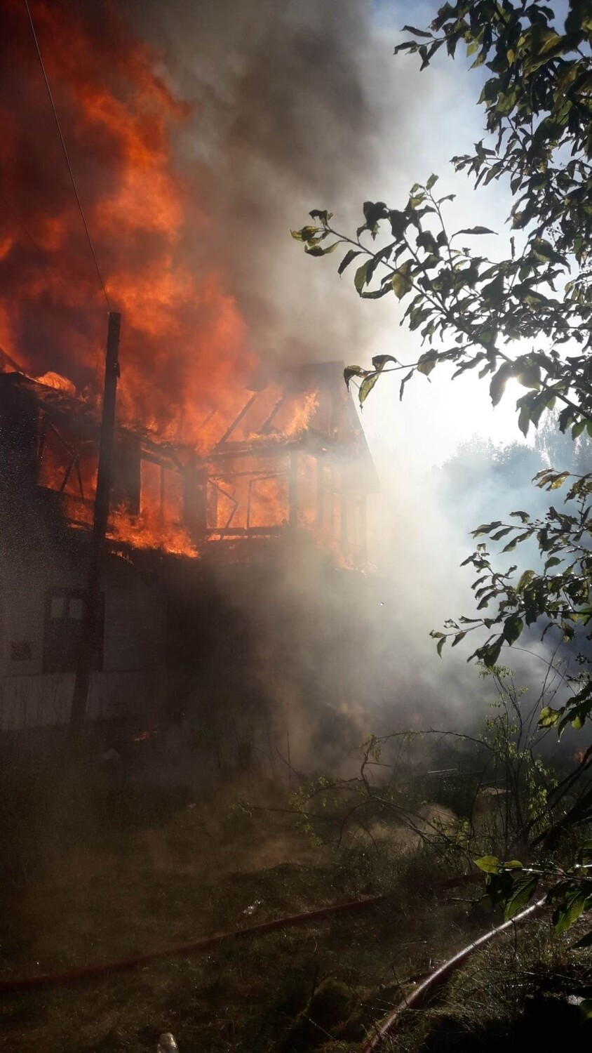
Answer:
[{"label": "burning house together with the tall orange flames rising above it", "polygon": [[[264,243],[259,173],[257,210],[229,207],[245,174],[233,122],[196,153],[222,131],[218,93],[202,99],[205,81],[138,32],[146,5],[34,6],[39,47],[23,5],[4,4],[0,67],[0,730],[67,723],[97,607],[88,721],[140,734],[192,713],[203,732],[216,714],[242,750],[249,714],[347,708],[364,676],[344,612],[367,581],[371,458],[341,365],[286,367],[314,357],[318,327],[283,321],[284,220],[275,207]],[[105,301],[123,367],[101,595],[85,604]]]}]

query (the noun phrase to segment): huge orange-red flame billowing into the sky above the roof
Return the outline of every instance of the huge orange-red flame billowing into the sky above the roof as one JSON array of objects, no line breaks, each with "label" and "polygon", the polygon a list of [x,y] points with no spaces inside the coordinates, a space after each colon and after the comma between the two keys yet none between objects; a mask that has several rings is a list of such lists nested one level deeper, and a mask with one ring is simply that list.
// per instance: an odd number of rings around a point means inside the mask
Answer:
[{"label": "huge orange-red flame billowing into the sky above the roof", "polygon": [[[3,7],[0,345],[44,383],[61,374],[81,390],[99,379],[105,304],[22,4]],[[204,418],[256,359],[224,274],[200,258],[211,220],[199,173],[176,170],[175,137],[192,107],[156,76],[160,57],[116,5],[37,0],[33,14],[106,292],[123,315],[120,420],[203,449]]]}]

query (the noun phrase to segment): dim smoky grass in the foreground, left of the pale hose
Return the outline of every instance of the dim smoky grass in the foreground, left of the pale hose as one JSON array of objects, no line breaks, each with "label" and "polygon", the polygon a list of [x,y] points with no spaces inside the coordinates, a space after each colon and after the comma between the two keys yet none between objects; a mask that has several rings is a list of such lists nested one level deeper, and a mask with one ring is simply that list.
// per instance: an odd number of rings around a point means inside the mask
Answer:
[{"label": "dim smoky grass in the foreground, left of the pale hose", "polygon": [[[380,907],[0,1000],[0,1049],[356,1050],[409,978],[487,925],[396,839],[313,847],[286,787],[157,761],[2,776],[0,975],[108,961],[386,891]],[[254,806],[238,806],[247,798]],[[257,907],[251,916],[243,912]]]}]

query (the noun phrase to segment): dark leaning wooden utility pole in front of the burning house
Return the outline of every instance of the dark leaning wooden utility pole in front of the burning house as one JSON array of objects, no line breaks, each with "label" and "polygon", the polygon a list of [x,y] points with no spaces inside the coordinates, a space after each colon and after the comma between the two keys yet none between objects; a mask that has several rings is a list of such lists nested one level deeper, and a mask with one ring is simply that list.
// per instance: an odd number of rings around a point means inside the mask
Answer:
[{"label": "dark leaning wooden utility pole in front of the burning house", "polygon": [[101,578],[105,555],[107,519],[109,516],[117,382],[120,375],[120,326],[121,315],[117,311],[109,311],[107,351],[105,355],[105,386],[99,443],[99,466],[97,472],[97,492],[95,495],[95,514],[93,517],[93,537],[90,541],[90,564],[88,568],[88,584],[86,587],[78,665],[69,717],[70,737],[73,739],[80,736],[86,716],[90,672],[100,628]]}]

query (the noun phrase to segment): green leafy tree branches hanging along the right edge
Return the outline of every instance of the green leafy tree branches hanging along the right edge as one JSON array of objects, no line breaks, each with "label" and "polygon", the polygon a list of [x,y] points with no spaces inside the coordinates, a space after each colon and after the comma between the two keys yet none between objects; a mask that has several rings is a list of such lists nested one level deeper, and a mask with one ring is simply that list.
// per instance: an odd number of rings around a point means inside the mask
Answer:
[{"label": "green leafy tree branches hanging along the right edge", "polygon": [[[401,397],[416,375],[427,377],[451,364],[453,377],[477,370],[487,378],[495,405],[510,378],[525,389],[516,410],[526,435],[549,411],[558,429],[573,439],[592,437],[592,5],[569,0],[565,19],[553,6],[530,0],[458,0],[443,4],[427,29],[405,26],[409,39],[395,53],[419,55],[422,68],[445,48],[454,57],[464,47],[472,67],[487,78],[478,103],[484,107],[486,136],[470,155],[454,157],[457,172],[475,186],[507,180],[512,195],[507,253],[487,255],[482,238],[487,226],[450,232],[447,201],[437,194],[437,176],[415,183],[400,207],[383,201],[364,203],[356,232],[340,232],[330,212],[314,210],[311,222],[293,237],[305,252],[321,257],[344,250],[339,274],[355,261],[353,284],[365,299],[395,296],[405,305],[403,321],[416,332],[422,353],[403,363],[391,355],[372,366],[349,365],[345,381],[359,384],[364,403],[382,374],[401,372]],[[488,240],[487,244],[495,244]],[[498,240],[503,245],[504,241]],[[451,619],[433,632],[442,654],[447,641],[461,643],[468,633],[489,636],[471,658],[495,665],[504,644],[514,643],[525,627],[539,625],[572,640],[576,631],[592,638],[592,473],[545,468],[535,484],[554,494],[567,489],[567,505],[551,505],[539,517],[516,510],[507,519],[484,523],[475,539],[504,541],[511,553],[534,540],[543,565],[516,575],[516,567],[498,571],[485,541],[478,540],[467,563],[478,573],[473,589],[476,617]],[[580,683],[557,709],[546,708],[543,727],[559,733],[571,722],[579,729],[592,713],[592,677],[581,656]],[[581,771],[592,764],[584,753]],[[592,791],[584,793],[571,821],[592,817]],[[565,878],[566,895],[577,914],[592,905],[583,888],[592,849],[585,847],[577,868]],[[515,860],[493,860],[492,880],[514,889],[522,878]],[[502,876],[501,876],[502,875]],[[577,876],[579,875],[579,876]],[[527,874],[514,907],[533,894],[535,874]],[[509,882],[509,883],[508,883]],[[575,882],[575,883],[574,883]],[[497,888],[497,886],[496,886]],[[565,890],[564,890],[565,891]],[[512,892],[514,895],[514,892]],[[562,907],[564,905],[564,907]],[[565,908],[565,909],[564,909]],[[563,913],[562,913],[563,911]]]}]

